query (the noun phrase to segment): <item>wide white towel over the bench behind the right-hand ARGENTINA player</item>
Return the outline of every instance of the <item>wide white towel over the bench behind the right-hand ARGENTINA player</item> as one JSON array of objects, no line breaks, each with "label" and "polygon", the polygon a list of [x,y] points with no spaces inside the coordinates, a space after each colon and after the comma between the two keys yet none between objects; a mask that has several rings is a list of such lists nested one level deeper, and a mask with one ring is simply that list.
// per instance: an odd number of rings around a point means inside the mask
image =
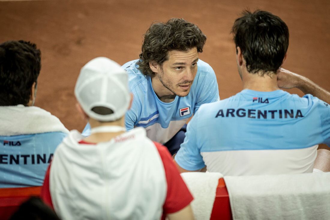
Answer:
[{"label": "wide white towel over the bench behind the right-hand ARGENTINA player", "polygon": [[224,177],[234,220],[330,219],[330,173]]}]

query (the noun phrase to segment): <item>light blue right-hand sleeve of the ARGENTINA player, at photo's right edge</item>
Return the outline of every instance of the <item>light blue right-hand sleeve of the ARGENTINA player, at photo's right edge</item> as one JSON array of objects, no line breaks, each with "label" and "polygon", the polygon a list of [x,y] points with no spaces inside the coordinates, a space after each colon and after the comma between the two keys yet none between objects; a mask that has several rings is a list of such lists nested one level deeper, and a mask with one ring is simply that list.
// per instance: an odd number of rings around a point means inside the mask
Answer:
[{"label": "light blue right-hand sleeve of the ARGENTINA player, at photo's right edge", "polygon": [[330,104],[313,96],[320,114],[323,143],[330,147]]}]

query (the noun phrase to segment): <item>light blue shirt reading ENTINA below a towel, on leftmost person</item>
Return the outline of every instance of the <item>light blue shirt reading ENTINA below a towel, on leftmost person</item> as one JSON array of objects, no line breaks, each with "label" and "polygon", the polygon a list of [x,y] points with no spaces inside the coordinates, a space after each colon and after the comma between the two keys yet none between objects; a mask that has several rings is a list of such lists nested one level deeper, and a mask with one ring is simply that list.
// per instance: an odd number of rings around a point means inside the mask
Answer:
[{"label": "light blue shirt reading ENTINA below a towel, on leftmost person", "polygon": [[0,188],[42,186],[53,153],[65,136],[63,132],[0,136]]}]

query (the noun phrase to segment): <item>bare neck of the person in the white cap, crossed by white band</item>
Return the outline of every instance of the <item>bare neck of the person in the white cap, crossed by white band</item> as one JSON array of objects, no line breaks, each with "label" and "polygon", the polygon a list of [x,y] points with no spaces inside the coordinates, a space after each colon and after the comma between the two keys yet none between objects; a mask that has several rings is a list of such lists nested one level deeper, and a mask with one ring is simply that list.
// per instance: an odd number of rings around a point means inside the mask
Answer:
[{"label": "bare neck of the person in the white cap, crossed by white band", "polygon": [[[89,119],[88,120],[90,127],[99,127],[99,126],[120,126],[120,127],[125,127],[125,117],[120,118],[119,120],[115,122],[99,122],[94,119]],[[125,131],[118,131],[118,132],[102,132],[102,133],[93,133],[90,136],[84,138],[83,140],[86,142],[91,142],[91,143],[99,143],[99,142],[106,142],[110,141],[114,137],[125,133]]]}]

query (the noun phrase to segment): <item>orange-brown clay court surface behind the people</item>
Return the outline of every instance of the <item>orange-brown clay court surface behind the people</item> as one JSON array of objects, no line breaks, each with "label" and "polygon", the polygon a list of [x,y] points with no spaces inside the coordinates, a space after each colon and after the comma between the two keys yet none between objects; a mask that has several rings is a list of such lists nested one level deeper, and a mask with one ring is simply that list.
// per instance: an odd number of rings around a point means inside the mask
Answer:
[{"label": "orange-brown clay court surface behind the people", "polygon": [[[26,40],[42,52],[36,106],[69,129],[86,124],[75,108],[74,86],[82,66],[105,56],[119,64],[137,59],[142,35],[154,21],[173,17],[195,23],[207,35],[199,56],[215,70],[220,98],[238,93],[234,20],[249,8],[276,14],[290,31],[283,67],[330,90],[329,0],[75,0],[0,1],[0,41]],[[290,93],[303,95],[299,90]]]}]

